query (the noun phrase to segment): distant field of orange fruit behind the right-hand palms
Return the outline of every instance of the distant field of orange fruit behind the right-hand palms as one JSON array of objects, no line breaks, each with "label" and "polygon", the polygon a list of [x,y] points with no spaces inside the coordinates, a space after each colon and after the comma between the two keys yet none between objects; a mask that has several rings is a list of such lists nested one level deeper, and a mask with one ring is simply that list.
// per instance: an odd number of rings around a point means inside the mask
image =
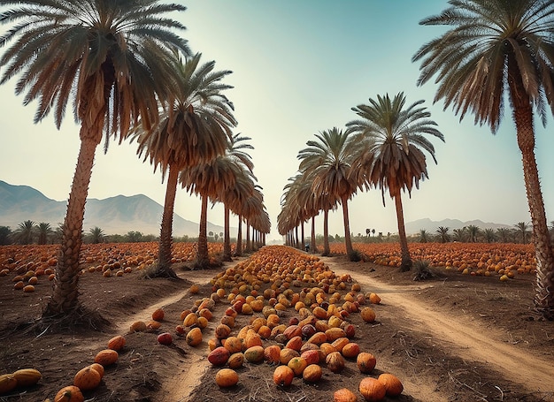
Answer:
[{"label": "distant field of orange fruit behind the right-hand palms", "polygon": [[[354,247],[367,262],[399,267],[400,247],[393,243],[356,243]],[[516,243],[409,243],[413,260],[429,262],[431,266],[458,269],[469,275],[535,274],[535,249],[531,244]],[[331,253],[345,254],[343,244],[332,243]]]}]

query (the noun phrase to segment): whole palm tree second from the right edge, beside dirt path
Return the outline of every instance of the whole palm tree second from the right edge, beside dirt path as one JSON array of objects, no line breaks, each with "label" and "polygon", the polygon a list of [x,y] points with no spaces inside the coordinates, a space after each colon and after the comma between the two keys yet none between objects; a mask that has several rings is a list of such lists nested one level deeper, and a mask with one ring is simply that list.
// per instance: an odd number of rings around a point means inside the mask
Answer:
[{"label": "whole palm tree second from the right edge, beside dirt path", "polygon": [[444,136],[430,120],[431,113],[419,107],[423,101],[412,103],[404,109],[405,96],[397,94],[393,100],[389,94],[377,95],[377,101],[369,99],[369,105],[361,104],[352,108],[361,119],[347,124],[353,133],[358,133],[364,144],[358,151],[359,169],[365,186],[381,188],[383,205],[385,188],[395,200],[398,238],[402,253],[400,269],[412,268],[412,257],[404,228],[404,210],[401,192],[412,193],[412,187],[419,187],[419,180],[428,178],[427,162],[423,151],[435,158],[433,144],[423,134],[433,135],[439,140]]}]

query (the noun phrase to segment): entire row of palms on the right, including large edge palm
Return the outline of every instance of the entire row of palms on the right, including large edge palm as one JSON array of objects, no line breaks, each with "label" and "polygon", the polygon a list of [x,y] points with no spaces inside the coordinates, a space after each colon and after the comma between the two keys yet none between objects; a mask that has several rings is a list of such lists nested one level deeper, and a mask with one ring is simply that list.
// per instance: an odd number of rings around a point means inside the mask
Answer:
[{"label": "entire row of palms on the right, including large edge palm", "polygon": [[[448,29],[439,37],[425,43],[412,57],[420,62],[418,85],[435,80],[437,92],[434,102],[443,101],[444,109],[450,106],[455,114],[464,118],[472,113],[475,124],[489,125],[496,133],[504,114],[505,102],[512,108],[516,138],[521,153],[527,203],[533,228],[533,244],[537,262],[535,280],[535,311],[554,320],[554,251],[551,247],[546,211],[535,159],[535,112],[546,125],[547,116],[554,114],[554,2],[551,0],[450,0],[450,6],[440,14],[420,21],[424,26],[443,26]],[[395,199],[398,229],[403,252],[403,269],[410,261],[404,251],[403,216],[400,193],[417,186],[419,178],[427,177],[425,157],[421,149],[427,148],[427,140],[420,133],[428,133],[414,124],[409,133],[403,133],[403,117],[409,110],[393,109],[401,102],[389,102],[389,96],[354,110],[363,118],[359,124],[350,123],[353,133],[369,139],[360,142],[364,156],[358,162],[350,160],[355,153],[321,155],[319,163],[328,162],[327,176],[309,180],[310,169],[306,164],[285,188],[282,199],[279,231],[283,234],[296,231],[320,210],[324,212],[324,231],[328,209],[342,203],[345,216],[345,241],[349,249],[349,233],[346,201],[356,193],[360,185],[389,189]],[[400,97],[397,96],[398,101]],[[396,100],[395,99],[395,100]],[[413,105],[417,107],[417,103]],[[383,113],[384,112],[384,113]],[[426,113],[420,110],[420,113]],[[394,118],[393,118],[394,117]],[[415,116],[414,116],[415,117]],[[418,118],[414,119],[414,122]],[[424,120],[422,120],[424,121]],[[433,125],[426,123],[429,128]],[[338,136],[348,137],[348,131]],[[442,139],[439,133],[435,136]],[[320,143],[308,144],[311,151],[326,154],[327,134],[319,135]],[[426,142],[416,142],[415,140]],[[411,144],[412,141],[412,144]],[[343,141],[346,151],[347,140]],[[330,143],[327,145],[331,145]],[[418,155],[413,155],[412,151]],[[311,154],[301,151],[301,158]],[[340,155],[340,159],[338,156]],[[333,163],[333,159],[334,163]],[[354,163],[358,164],[358,173]],[[302,165],[302,163],[301,163]],[[319,171],[322,171],[322,167]],[[350,169],[350,171],[349,171]],[[358,180],[357,180],[358,179]],[[353,180],[353,181],[350,181]],[[304,193],[302,181],[316,194],[313,199],[295,193]],[[298,182],[298,183],[296,183]],[[308,186],[308,185],[305,185]],[[296,188],[297,187],[297,188]],[[313,227],[313,221],[312,221]],[[313,229],[312,229],[313,232]],[[296,236],[297,237],[297,236]]]}]

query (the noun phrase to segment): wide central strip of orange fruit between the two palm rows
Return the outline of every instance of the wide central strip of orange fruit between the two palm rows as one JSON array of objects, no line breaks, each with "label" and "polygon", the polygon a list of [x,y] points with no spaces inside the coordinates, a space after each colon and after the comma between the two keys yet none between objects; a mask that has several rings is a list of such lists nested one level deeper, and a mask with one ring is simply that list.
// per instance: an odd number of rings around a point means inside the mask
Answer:
[{"label": "wide central strip of orange fruit between the two palm rows", "polygon": [[[260,371],[279,389],[319,383],[324,372],[350,373],[350,366],[361,379],[350,389],[337,387],[335,401],[356,401],[356,391],[372,401],[402,393],[396,375],[373,373],[375,356],[358,345],[370,336],[367,325],[376,317],[367,305],[381,299],[363,292],[350,275],[336,276],[318,257],[290,247],[264,247],[213,277],[212,285],[215,300],[230,304],[208,341],[219,387],[239,383],[244,364],[262,365]],[[246,324],[242,315],[250,316]]]}]

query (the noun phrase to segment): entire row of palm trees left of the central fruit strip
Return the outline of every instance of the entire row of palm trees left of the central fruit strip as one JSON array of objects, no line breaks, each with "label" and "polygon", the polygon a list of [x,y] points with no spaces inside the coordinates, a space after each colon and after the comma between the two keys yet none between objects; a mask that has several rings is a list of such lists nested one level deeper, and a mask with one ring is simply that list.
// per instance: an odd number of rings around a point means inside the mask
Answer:
[{"label": "entire row of palm trees left of the central fruit strip", "polygon": [[[256,185],[234,105],[222,80],[230,73],[200,63],[180,32],[185,27],[166,15],[180,4],[158,0],[51,0],[11,2],[0,14],[10,29],[0,38],[5,83],[19,76],[16,94],[38,104],[35,123],[50,112],[56,125],[73,102],[81,124],[79,151],[63,224],[53,291],[42,316],[67,315],[81,309],[78,300],[79,254],[88,185],[97,146],[131,138],[137,154],[150,158],[166,179],[158,268],[155,275],[175,277],[170,267],[173,203],[181,186],[203,199],[198,256],[207,260],[205,209],[223,202],[263,244],[270,231],[261,187]],[[8,46],[8,43],[10,45]],[[248,147],[247,147],[248,148]],[[218,180],[209,178],[215,172]],[[241,226],[239,226],[241,228]],[[241,236],[239,236],[241,239]],[[240,248],[237,245],[240,252]],[[230,247],[228,247],[230,253]],[[203,252],[205,251],[205,254]],[[228,255],[227,255],[228,257]]]}]

